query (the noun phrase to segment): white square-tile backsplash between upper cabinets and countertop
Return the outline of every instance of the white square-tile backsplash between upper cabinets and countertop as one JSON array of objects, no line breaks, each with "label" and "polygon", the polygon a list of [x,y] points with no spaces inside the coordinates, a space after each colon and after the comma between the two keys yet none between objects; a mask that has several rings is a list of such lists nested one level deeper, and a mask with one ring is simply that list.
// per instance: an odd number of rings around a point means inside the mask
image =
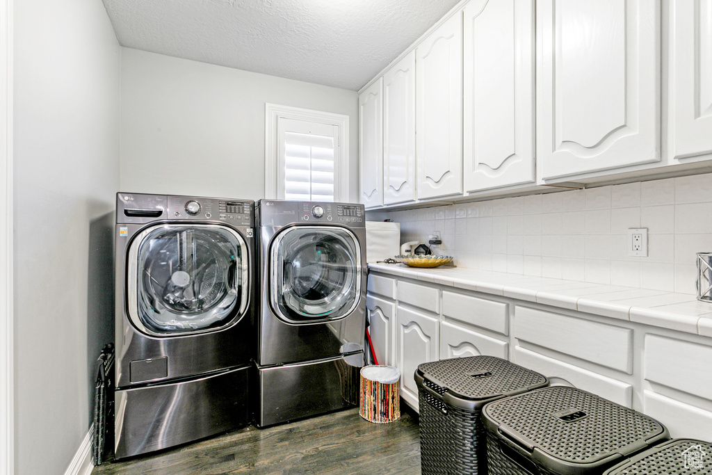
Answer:
[{"label": "white square-tile backsplash between upper cabinets and countertop", "polygon": [[[712,251],[712,174],[379,212],[401,241],[440,231],[461,267],[695,293],[695,254]],[[649,255],[628,256],[627,229]]]}]

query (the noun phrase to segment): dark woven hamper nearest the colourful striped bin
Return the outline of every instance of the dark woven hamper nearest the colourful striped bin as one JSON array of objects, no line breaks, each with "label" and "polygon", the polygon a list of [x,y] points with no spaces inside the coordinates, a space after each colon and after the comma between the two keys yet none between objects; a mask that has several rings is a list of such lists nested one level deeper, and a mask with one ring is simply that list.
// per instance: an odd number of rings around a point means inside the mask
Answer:
[{"label": "dark woven hamper nearest the colourful striped bin", "polygon": [[415,382],[423,475],[486,474],[483,405],[548,385],[545,376],[493,356],[423,363]]}]

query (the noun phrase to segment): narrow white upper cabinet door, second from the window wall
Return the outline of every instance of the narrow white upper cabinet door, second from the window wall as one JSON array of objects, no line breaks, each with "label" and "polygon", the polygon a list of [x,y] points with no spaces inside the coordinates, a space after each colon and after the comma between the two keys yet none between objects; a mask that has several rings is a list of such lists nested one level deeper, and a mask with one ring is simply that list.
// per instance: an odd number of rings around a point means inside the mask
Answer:
[{"label": "narrow white upper cabinet door, second from the window wall", "polygon": [[383,202],[415,199],[415,51],[383,75]]}]

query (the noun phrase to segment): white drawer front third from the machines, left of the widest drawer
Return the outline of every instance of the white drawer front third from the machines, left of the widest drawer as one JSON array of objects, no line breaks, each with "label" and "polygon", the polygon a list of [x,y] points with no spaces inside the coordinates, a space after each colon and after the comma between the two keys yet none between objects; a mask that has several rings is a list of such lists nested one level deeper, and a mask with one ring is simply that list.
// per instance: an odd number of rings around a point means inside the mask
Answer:
[{"label": "white drawer front third from the machines, left of the widest drawer", "polygon": [[443,291],[443,315],[488,330],[509,334],[509,304]]}]

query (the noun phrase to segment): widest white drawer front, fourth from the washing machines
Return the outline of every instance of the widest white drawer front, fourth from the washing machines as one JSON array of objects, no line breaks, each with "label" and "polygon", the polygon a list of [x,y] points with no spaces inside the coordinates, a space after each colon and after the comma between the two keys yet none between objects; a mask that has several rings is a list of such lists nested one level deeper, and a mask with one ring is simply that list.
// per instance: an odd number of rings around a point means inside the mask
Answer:
[{"label": "widest white drawer front, fourth from the washing machines", "polygon": [[516,306],[515,338],[614,370],[633,372],[633,330]]}]

